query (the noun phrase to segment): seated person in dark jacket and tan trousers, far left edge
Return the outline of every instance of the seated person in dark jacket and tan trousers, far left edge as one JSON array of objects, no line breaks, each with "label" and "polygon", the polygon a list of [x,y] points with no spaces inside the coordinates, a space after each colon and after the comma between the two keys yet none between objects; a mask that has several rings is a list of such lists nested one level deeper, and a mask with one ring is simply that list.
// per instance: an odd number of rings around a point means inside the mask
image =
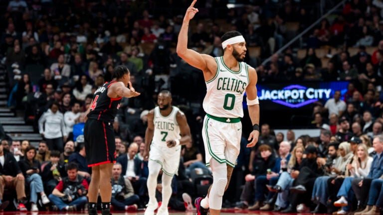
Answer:
[{"label": "seated person in dark jacket and tan trousers, far left edge", "polygon": [[[3,151],[3,146],[0,145],[0,200],[2,200],[4,188],[16,190],[17,200],[19,202],[17,209],[26,211],[23,204],[26,198],[24,183],[24,176],[21,173],[16,159],[10,152]],[[0,210],[6,207],[5,204],[4,202],[0,205]]]}]

